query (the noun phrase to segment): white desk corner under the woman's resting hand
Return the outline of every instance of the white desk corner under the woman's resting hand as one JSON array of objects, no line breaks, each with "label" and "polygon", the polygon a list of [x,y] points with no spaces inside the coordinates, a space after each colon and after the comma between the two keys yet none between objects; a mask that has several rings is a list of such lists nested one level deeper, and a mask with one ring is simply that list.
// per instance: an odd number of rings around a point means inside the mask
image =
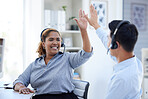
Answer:
[{"label": "white desk corner under the woman's resting hand", "polygon": [[13,89],[0,88],[0,99],[30,99],[32,94],[19,94]]}]

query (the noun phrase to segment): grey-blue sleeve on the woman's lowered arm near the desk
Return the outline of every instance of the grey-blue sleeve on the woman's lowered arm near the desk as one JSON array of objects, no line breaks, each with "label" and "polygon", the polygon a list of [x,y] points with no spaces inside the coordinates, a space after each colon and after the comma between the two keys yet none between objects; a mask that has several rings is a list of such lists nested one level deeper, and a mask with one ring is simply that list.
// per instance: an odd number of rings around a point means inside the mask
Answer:
[{"label": "grey-blue sleeve on the woman's lowered arm near the desk", "polygon": [[32,65],[30,64],[26,70],[13,82],[13,87],[15,86],[16,83],[22,83],[26,87],[30,83],[30,75],[31,75],[31,68]]}]

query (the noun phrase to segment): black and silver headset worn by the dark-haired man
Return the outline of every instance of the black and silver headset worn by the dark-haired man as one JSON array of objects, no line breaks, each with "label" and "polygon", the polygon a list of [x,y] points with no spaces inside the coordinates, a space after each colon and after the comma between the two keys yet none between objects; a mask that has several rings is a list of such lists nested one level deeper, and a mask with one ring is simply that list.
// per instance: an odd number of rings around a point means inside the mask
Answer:
[{"label": "black and silver headset worn by the dark-haired man", "polygon": [[117,25],[117,27],[116,27],[116,29],[115,29],[113,35],[112,35],[112,41],[111,41],[111,44],[110,44],[110,46],[109,46],[109,48],[108,48],[108,50],[107,50],[107,54],[108,54],[108,52],[109,52],[110,49],[117,49],[117,48],[118,48],[118,44],[116,43],[115,36],[116,36],[117,31],[119,30],[119,28],[120,28],[123,24],[130,24],[130,22],[129,22],[129,21],[121,21],[121,22]]}]

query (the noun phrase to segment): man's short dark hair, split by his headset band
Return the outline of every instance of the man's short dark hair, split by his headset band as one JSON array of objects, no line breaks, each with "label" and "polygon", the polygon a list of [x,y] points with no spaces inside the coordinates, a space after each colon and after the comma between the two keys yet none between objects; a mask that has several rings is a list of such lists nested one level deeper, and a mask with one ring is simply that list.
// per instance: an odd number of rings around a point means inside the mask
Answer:
[{"label": "man's short dark hair, split by his headset band", "polygon": [[[112,38],[112,35],[117,27],[117,25],[122,20],[113,20],[109,23],[109,29],[111,31],[110,37]],[[118,41],[125,51],[132,52],[134,50],[134,46],[138,39],[138,30],[134,24],[123,24],[119,27],[116,35],[115,35],[115,41]]]}]

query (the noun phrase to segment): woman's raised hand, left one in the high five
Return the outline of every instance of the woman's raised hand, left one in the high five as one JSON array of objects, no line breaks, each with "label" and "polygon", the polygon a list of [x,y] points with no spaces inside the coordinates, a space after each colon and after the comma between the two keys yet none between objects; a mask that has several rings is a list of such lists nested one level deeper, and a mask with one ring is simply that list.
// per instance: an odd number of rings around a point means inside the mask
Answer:
[{"label": "woman's raised hand, left one in the high five", "polygon": [[85,12],[82,12],[82,9],[79,10],[79,20],[77,18],[75,18],[74,20],[77,22],[80,30],[86,30],[87,29],[87,20],[84,17],[85,16]]}]

